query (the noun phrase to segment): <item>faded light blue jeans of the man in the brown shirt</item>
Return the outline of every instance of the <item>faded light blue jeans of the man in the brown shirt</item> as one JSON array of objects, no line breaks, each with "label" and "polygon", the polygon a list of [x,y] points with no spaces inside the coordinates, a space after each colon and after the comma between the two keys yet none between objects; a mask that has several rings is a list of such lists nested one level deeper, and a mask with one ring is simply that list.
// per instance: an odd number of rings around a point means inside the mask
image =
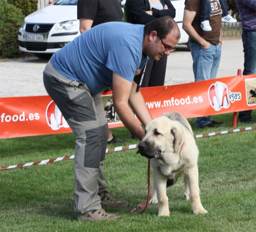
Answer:
[{"label": "faded light blue jeans of the man in the brown shirt", "polygon": [[[189,43],[193,58],[193,72],[195,81],[215,79],[221,60],[221,46],[219,44],[203,49],[198,43]],[[212,116],[198,117],[196,127],[201,128],[212,122]]]}]

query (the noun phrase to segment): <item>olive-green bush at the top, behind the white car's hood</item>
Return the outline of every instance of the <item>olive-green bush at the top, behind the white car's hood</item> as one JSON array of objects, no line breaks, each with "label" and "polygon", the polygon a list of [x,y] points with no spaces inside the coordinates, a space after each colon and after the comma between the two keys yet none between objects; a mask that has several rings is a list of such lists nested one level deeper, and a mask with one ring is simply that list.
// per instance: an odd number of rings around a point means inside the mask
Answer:
[{"label": "olive-green bush at the top, behind the white car's hood", "polygon": [[19,8],[27,16],[38,9],[38,0],[7,0],[7,3]]}]

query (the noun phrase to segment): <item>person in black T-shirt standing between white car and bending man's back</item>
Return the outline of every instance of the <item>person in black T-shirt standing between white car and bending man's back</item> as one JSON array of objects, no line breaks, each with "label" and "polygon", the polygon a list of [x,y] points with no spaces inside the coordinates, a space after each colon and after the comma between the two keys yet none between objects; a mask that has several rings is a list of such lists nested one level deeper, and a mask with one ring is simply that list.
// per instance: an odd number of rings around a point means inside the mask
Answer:
[{"label": "person in black T-shirt standing between white car and bending man's back", "polygon": [[[118,0],[78,0],[77,18],[81,34],[107,22],[122,22],[123,12]],[[125,140],[117,139],[108,129],[108,144],[124,143]]]}]

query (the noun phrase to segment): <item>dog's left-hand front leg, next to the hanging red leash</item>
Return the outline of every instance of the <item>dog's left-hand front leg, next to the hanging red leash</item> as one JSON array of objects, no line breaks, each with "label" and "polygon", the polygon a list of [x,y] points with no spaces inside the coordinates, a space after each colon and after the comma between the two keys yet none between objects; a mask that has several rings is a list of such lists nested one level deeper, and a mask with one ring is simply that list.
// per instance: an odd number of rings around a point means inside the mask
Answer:
[{"label": "dog's left-hand front leg, next to the hanging red leash", "polygon": [[[169,203],[166,195],[166,181],[167,177],[163,176],[160,171],[154,169],[153,171],[154,187],[157,193],[158,201],[158,216],[169,216]],[[153,191],[154,194],[154,191]],[[152,196],[153,197],[153,196]]]}]

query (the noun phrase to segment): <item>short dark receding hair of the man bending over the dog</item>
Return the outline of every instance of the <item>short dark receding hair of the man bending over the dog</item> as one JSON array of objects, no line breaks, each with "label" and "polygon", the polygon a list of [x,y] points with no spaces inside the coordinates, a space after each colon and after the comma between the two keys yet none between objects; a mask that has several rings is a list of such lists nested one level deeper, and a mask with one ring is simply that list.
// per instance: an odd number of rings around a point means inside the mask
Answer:
[{"label": "short dark receding hair of the man bending over the dog", "polygon": [[159,17],[152,20],[145,25],[145,34],[149,35],[152,31],[156,31],[158,37],[161,39],[166,38],[166,36],[171,32],[177,39],[180,39],[180,29],[170,16]]}]

